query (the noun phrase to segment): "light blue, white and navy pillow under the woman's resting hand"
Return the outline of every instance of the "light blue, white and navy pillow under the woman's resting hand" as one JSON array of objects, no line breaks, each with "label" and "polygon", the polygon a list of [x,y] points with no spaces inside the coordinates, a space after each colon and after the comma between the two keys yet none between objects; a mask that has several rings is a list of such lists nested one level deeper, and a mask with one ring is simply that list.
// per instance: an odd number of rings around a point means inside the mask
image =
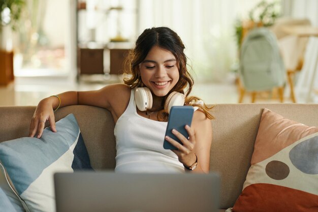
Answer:
[{"label": "light blue, white and navy pillow under the woman's resting hand", "polygon": [[55,172],[92,169],[74,115],[60,119],[56,130],[46,128],[40,139],[25,137],[0,143],[4,174],[26,211],[55,211]]}]

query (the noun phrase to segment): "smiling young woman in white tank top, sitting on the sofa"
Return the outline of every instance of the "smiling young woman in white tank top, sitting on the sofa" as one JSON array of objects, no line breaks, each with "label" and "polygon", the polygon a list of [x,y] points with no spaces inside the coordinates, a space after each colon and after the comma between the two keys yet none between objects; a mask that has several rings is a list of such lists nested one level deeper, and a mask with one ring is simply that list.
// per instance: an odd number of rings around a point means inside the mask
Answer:
[{"label": "smiling young woman in white tank top, sitting on the sofa", "polygon": [[[40,138],[46,121],[56,132],[54,109],[58,107],[98,106],[108,109],[116,124],[115,171],[207,173],[212,116],[199,98],[189,96],[193,78],[186,69],[183,50],[181,39],[170,28],[145,29],[126,59],[124,84],[111,84],[87,92],[65,92],[41,100],[31,120],[29,136]],[[140,106],[143,95],[148,101],[146,108]],[[183,145],[165,137],[167,105],[176,99],[175,95],[177,99],[184,99],[182,104],[198,108],[192,126],[185,126],[188,138],[173,131]],[[164,149],[164,139],[177,149]]]}]

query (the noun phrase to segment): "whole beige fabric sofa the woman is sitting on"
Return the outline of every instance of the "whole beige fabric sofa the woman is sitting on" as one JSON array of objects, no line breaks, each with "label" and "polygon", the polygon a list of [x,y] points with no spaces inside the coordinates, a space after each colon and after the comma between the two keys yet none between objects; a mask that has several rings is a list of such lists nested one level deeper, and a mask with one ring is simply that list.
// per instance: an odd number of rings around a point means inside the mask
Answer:
[{"label": "whole beige fabric sofa the woman is sitting on", "polygon": [[[262,109],[268,108],[308,126],[318,126],[318,104],[220,104],[211,109],[213,141],[210,170],[221,174],[220,211],[232,207],[250,166]],[[34,106],[0,107],[0,142],[28,135]],[[73,113],[78,120],[94,169],[114,169],[114,122],[109,111],[92,106],[68,106],[56,111],[56,121]]]}]

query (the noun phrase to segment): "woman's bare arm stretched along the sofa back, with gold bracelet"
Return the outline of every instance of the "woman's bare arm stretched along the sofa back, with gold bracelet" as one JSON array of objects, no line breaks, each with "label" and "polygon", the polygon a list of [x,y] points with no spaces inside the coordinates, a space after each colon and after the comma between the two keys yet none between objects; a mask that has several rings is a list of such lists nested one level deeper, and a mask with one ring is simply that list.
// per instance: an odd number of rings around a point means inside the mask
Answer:
[{"label": "woman's bare arm stretched along the sofa back, with gold bracelet", "polygon": [[[65,92],[45,98],[38,104],[31,119],[29,137],[42,136],[45,122],[48,121],[53,132],[56,132],[54,109],[69,105],[91,105],[106,108],[119,117],[128,105],[130,97],[130,87],[124,84],[107,85],[99,90],[85,92]],[[121,97],[121,98],[119,98]],[[60,100],[60,103],[59,103]],[[115,109],[113,109],[115,108]]]}]

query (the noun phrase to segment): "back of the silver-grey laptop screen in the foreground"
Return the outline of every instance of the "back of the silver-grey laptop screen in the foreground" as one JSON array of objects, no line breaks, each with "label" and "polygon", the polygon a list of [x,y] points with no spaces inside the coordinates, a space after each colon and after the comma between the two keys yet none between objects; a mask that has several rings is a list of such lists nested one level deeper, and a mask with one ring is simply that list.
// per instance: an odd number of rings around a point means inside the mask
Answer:
[{"label": "back of the silver-grey laptop screen in the foreground", "polygon": [[220,178],[209,174],[55,173],[57,212],[215,212]]}]

